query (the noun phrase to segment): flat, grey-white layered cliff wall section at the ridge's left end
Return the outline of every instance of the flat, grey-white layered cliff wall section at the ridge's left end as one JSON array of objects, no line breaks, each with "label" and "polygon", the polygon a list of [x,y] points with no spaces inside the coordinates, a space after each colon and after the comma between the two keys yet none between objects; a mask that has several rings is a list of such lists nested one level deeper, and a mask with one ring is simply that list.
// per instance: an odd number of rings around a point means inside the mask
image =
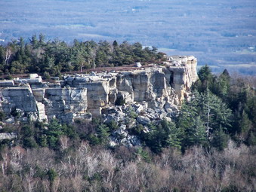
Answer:
[{"label": "flat, grey-white layered cliff wall section at the ridge's left end", "polygon": [[86,114],[85,88],[41,88],[32,91],[28,86],[8,87],[1,91],[2,110],[5,114],[17,111],[19,116],[32,120],[57,118],[67,123]]}]

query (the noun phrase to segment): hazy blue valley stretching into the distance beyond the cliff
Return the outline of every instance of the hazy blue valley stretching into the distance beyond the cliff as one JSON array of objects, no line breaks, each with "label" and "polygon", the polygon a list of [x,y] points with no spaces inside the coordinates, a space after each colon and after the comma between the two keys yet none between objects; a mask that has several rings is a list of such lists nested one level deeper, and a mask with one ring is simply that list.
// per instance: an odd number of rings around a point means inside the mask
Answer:
[{"label": "hazy blue valley stretching into the distance beyond the cliff", "polygon": [[256,3],[245,1],[1,1],[3,44],[43,33],[72,42],[140,42],[170,55],[194,55],[199,66],[255,74]]}]

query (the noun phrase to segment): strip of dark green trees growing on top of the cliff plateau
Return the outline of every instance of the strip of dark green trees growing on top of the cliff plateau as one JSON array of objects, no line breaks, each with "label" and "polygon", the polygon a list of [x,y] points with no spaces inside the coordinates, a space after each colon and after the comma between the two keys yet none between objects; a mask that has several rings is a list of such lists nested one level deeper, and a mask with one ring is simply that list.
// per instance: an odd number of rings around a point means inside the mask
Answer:
[{"label": "strip of dark green trees growing on top of the cliff plateau", "polygon": [[156,47],[143,48],[140,43],[118,44],[113,41],[78,41],[66,44],[55,39],[45,41],[45,35],[33,35],[28,42],[23,38],[11,41],[6,46],[0,45],[0,74],[12,75],[23,73],[39,73],[41,75],[57,75],[61,72],[82,72],[101,66],[122,66],[134,62],[158,62],[163,53]]}]

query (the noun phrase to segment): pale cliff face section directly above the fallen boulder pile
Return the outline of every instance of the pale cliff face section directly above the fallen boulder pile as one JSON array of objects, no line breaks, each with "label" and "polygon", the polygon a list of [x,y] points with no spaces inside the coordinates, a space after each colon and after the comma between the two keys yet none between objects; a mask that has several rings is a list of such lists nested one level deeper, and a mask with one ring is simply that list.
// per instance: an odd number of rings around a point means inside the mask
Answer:
[{"label": "pale cliff face section directly above the fallen boulder pile", "polygon": [[118,75],[116,88],[121,95],[125,95],[125,102],[146,101],[150,107],[155,107],[155,102],[170,99],[168,93],[171,87],[167,85],[162,68],[121,73]]}]

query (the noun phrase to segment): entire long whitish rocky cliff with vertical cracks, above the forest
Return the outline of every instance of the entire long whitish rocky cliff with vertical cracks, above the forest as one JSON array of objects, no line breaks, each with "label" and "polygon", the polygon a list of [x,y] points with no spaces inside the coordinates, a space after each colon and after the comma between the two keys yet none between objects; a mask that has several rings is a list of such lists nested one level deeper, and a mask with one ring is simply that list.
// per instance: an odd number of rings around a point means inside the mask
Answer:
[{"label": "entire long whitish rocky cliff with vertical cracks, above the forest", "polygon": [[171,118],[177,105],[189,96],[196,79],[195,57],[172,56],[164,66],[69,75],[54,84],[43,82],[37,75],[0,81],[0,99],[5,114],[9,117],[16,114],[20,120],[91,119],[91,114],[109,115],[109,110],[121,102],[134,105],[135,111],[147,112],[148,117],[140,118],[147,121],[154,115],[155,118]]}]

